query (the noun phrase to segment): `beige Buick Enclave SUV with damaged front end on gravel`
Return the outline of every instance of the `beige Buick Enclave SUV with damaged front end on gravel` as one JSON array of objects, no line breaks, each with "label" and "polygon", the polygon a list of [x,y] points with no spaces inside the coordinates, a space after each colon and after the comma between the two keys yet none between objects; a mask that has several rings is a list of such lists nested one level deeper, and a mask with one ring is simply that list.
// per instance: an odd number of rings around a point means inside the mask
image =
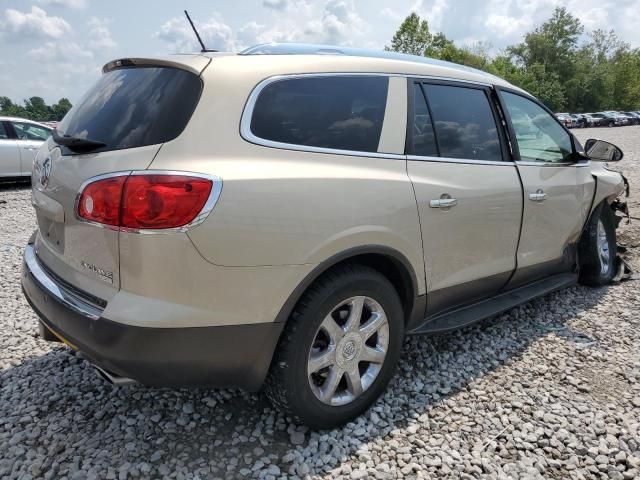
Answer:
[{"label": "beige Buick Enclave SUV with damaged front end on gravel", "polygon": [[389,52],[127,58],[40,149],[24,293],[114,383],[239,386],[314,428],[409,333],[616,273],[619,173],[531,95]]}]

